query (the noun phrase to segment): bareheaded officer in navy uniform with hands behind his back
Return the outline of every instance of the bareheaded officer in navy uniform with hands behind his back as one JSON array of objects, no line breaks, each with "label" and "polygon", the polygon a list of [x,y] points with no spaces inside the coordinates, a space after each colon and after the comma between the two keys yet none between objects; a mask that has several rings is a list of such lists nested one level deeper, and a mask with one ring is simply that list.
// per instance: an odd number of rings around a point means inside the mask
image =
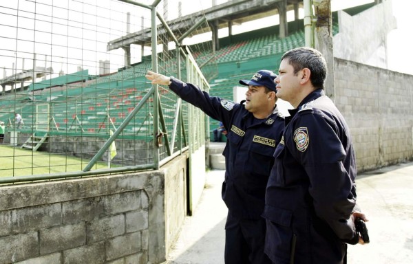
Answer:
[{"label": "bareheaded officer in navy uniform with hands behind his back", "polygon": [[350,130],[324,94],[326,61],[317,50],[286,52],[275,79],[289,110],[266,188],[265,252],[275,264],[346,263],[347,244],[363,243],[354,219],[356,159]]}]

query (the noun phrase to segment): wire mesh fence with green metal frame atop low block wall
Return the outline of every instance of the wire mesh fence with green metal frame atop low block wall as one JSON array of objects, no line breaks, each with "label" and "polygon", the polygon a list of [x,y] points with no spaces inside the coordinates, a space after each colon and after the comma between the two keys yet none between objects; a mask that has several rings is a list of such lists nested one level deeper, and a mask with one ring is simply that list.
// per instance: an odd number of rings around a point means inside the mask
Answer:
[{"label": "wire mesh fence with green metal frame atop low block wall", "polygon": [[209,31],[206,19],[133,3],[0,4],[0,183],[158,168],[204,141],[205,131],[189,137],[189,105],[145,73],[186,80],[193,56],[207,89],[211,42],[185,43]]}]

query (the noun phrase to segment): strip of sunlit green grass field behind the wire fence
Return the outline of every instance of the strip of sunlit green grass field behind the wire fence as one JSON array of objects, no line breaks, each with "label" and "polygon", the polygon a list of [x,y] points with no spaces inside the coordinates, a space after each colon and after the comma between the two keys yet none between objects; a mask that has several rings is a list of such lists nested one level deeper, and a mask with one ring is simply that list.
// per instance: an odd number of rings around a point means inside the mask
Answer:
[{"label": "strip of sunlit green grass field behind the wire fence", "polygon": [[[81,171],[89,159],[0,145],[0,177],[19,177]],[[97,164],[96,168],[107,168]]]}]

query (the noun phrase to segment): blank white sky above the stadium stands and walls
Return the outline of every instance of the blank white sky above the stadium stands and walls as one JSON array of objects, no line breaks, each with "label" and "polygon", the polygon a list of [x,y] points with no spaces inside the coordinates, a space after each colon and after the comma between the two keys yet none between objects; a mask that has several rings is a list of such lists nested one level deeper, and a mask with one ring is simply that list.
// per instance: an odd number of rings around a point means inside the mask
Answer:
[{"label": "blank white sky above the stadium stands and walls", "polygon": [[[178,16],[178,1],[182,1],[182,15],[198,10],[210,8],[212,0],[168,0],[168,19]],[[227,0],[215,0],[215,3],[224,3]],[[83,4],[91,3],[90,5]],[[143,3],[152,3],[152,0],[142,0]],[[332,0],[332,11],[350,8],[354,5],[371,3],[372,0]],[[411,24],[410,10],[413,10],[413,1],[392,0],[393,14],[396,17],[398,28],[392,30],[388,36],[388,65],[391,70],[413,74],[410,50],[413,37],[409,25]],[[37,3],[37,4],[35,4]],[[40,3],[40,4],[39,4]],[[70,10],[67,7],[70,3]],[[41,6],[41,8],[39,8]],[[126,6],[126,8],[125,8]],[[162,3],[159,10],[162,14]],[[37,7],[37,8],[36,8]],[[16,10],[19,9],[19,12]],[[35,12],[34,12],[35,10]],[[36,58],[39,61],[52,63],[54,72],[62,70],[65,73],[76,72],[78,66],[89,69],[89,74],[98,74],[96,61],[110,60],[111,72],[123,66],[123,51],[121,49],[107,52],[107,41],[116,39],[125,34],[125,13],[131,12],[134,22],[131,23],[131,32],[140,30],[142,23],[149,26],[148,19],[141,19],[149,10],[125,5],[120,1],[109,0],[17,0],[1,1],[0,3],[0,78],[4,72],[12,74],[12,64],[15,68],[32,68],[33,53],[39,52]],[[52,14],[52,15],[50,15]],[[299,12],[300,18],[304,16],[303,10]],[[34,19],[36,22],[33,23]],[[288,14],[288,20],[293,19],[293,12]],[[233,34],[253,30],[257,25],[271,26],[278,23],[277,16],[251,21],[242,25],[233,26]],[[16,25],[19,25],[17,30]],[[109,24],[109,27],[101,25]],[[34,30],[34,31],[33,31]],[[48,31],[53,32],[49,34]],[[211,36],[210,33],[207,34]],[[219,36],[228,35],[227,29],[222,29]],[[19,41],[16,41],[16,39]],[[202,36],[199,36],[202,38]],[[81,40],[81,41],[80,41]],[[187,39],[185,44],[198,41],[196,38]],[[56,45],[50,45],[56,43]],[[65,43],[60,45],[60,43]],[[17,50],[17,52],[15,52]],[[45,52],[43,52],[45,51]],[[140,60],[140,48],[134,47],[132,56]],[[149,52],[149,50],[147,50]],[[42,55],[43,53],[43,55]],[[44,54],[47,54],[45,56]],[[135,63],[138,61],[131,61]],[[43,63],[38,63],[38,66]]]}]

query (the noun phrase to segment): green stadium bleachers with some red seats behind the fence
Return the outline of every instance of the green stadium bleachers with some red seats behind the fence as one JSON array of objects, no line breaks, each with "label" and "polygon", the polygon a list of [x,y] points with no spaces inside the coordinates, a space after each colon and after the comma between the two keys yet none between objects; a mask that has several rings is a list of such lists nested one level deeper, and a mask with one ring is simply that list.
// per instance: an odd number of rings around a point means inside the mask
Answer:
[{"label": "green stadium bleachers with some red seats behind the fence", "polygon": [[[333,26],[333,33],[338,32],[338,25]],[[233,87],[240,79],[249,79],[258,69],[270,69],[276,72],[279,58],[286,50],[304,45],[304,30],[297,30],[286,38],[279,39],[277,34],[255,33],[255,37],[248,39],[248,34],[240,41],[225,45],[213,54],[194,51],[193,56],[198,65],[202,65],[211,56],[218,64],[218,76],[210,82],[210,94],[233,100]],[[162,63],[162,62],[161,62]],[[118,72],[105,76],[91,76],[85,72],[59,76],[59,80],[47,80],[35,83],[30,92],[23,91],[16,94],[1,96],[0,120],[10,123],[14,120],[14,113],[23,114],[23,120],[34,120],[36,105],[50,105],[50,129],[70,131],[74,133],[93,134],[107,133],[111,129],[111,122],[118,126],[143,96],[151,85],[145,80],[145,72],[151,68],[150,61],[144,61],[131,67],[124,67]],[[162,65],[160,65],[162,69]],[[81,78],[79,77],[81,76]],[[80,78],[80,79],[79,79]],[[62,83],[67,80],[67,83]],[[47,84],[48,87],[47,87]],[[167,123],[171,124],[173,105],[165,103],[174,96],[165,89],[160,91],[162,108],[165,109]],[[145,134],[152,137],[149,126],[151,118],[151,100],[129,123],[124,133],[136,135]],[[20,102],[19,107],[15,102]],[[27,123],[27,122],[26,122]],[[210,121],[210,130],[218,126],[218,121]],[[30,128],[32,129],[32,128]],[[146,131],[146,132],[145,132]]]}]

